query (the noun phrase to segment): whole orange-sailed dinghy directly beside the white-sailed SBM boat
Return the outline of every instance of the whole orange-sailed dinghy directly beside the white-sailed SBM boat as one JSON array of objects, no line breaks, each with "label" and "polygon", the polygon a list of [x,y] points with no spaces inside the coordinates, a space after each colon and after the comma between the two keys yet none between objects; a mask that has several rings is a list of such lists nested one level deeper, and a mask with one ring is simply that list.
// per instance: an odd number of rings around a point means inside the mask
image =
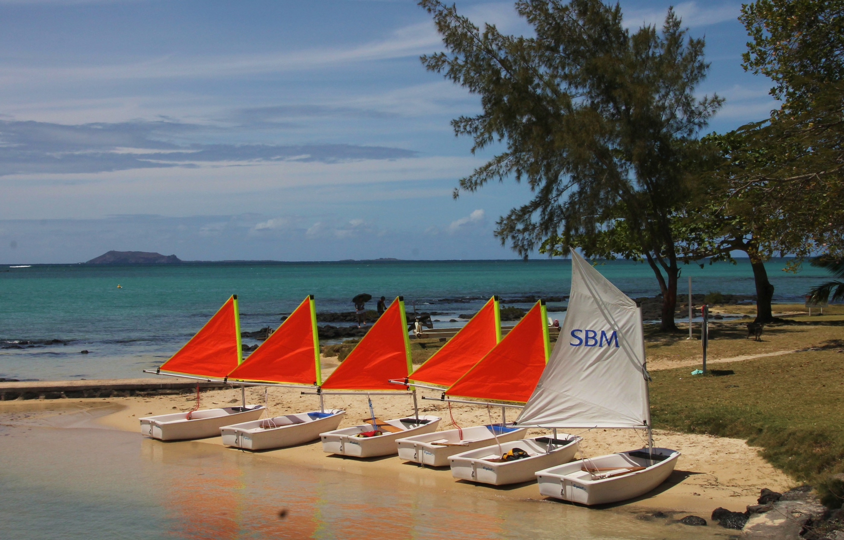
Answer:
[{"label": "whole orange-sailed dinghy directly beside the white-sailed SBM boat", "polygon": [[[526,402],[549,358],[547,319],[544,300],[539,300],[495,348],[446,390],[446,397]],[[524,435],[522,429],[519,435]],[[495,438],[495,444],[450,456],[452,477],[493,485],[529,482],[538,470],[571,460],[581,440],[565,434],[509,442]]]}]

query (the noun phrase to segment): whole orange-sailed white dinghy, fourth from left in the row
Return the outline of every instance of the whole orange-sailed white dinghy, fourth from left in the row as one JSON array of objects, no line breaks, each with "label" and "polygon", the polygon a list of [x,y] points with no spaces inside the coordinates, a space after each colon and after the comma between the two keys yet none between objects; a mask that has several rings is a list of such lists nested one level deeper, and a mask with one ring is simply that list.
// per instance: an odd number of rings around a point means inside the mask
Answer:
[{"label": "whole orange-sailed white dinghy, fourth from left in the row", "polygon": [[[410,375],[414,382],[452,386],[501,341],[499,300],[493,296],[455,336]],[[430,467],[448,467],[448,458],[463,451],[521,439],[527,429],[501,424],[446,429],[396,441],[398,457]]]}]

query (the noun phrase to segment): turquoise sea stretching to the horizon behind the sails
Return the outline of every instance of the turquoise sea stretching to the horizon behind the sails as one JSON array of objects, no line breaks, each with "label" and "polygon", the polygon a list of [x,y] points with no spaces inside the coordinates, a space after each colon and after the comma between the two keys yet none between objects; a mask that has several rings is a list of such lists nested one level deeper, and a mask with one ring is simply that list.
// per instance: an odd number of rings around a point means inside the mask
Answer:
[{"label": "turquoise sea stretching to the horizon behind the sails", "polygon": [[[802,301],[827,276],[808,265],[785,273],[784,266],[784,260],[767,264],[780,301]],[[610,261],[598,270],[631,297],[658,293],[645,264]],[[681,293],[687,276],[698,293],[755,294],[746,261],[684,267]],[[351,311],[358,293],[387,299],[402,294],[408,311],[415,306],[441,312],[434,318],[447,325],[458,314],[476,311],[492,294],[505,300],[567,295],[570,278],[571,262],[557,260],[0,267],[0,343],[41,342],[0,349],[0,377],[143,376],[143,369],[169,358],[230,294],[240,300],[243,330],[278,326],[280,316],[306,294],[316,296],[317,311]],[[549,311],[562,305],[552,303]],[[367,307],[374,309],[374,301]],[[43,344],[52,339],[67,344]],[[83,349],[90,353],[80,354]]]}]

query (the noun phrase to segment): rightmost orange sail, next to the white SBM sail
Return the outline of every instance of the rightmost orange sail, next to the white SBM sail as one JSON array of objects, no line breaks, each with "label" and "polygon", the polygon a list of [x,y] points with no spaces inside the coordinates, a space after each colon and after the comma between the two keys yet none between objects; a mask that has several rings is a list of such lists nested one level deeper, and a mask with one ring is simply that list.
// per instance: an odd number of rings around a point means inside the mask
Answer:
[{"label": "rightmost orange sail, next to the white SBM sail", "polygon": [[539,300],[501,343],[446,390],[446,395],[527,402],[549,352],[545,303]]}]

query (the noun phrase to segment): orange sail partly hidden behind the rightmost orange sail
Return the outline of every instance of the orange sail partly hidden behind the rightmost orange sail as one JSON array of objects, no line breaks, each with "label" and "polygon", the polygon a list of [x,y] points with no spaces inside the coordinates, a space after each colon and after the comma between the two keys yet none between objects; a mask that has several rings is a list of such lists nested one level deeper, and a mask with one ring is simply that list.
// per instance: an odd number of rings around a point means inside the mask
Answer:
[{"label": "orange sail partly hidden behind the rightmost orange sail", "polygon": [[415,370],[410,379],[433,385],[452,386],[500,341],[498,297],[493,296],[454,338]]}]

